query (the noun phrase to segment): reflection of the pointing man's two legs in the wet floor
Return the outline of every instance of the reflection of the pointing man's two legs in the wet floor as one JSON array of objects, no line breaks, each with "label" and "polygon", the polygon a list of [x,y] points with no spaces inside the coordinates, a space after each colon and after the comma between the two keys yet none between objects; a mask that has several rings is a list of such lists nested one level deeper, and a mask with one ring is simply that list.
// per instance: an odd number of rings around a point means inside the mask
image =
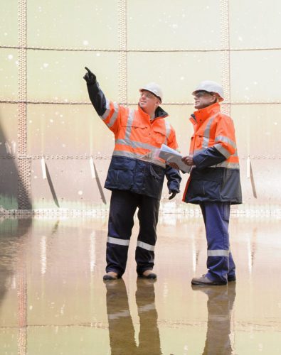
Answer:
[{"label": "reflection of the pointing man's two legs in the wet floor", "polygon": [[122,279],[105,283],[107,317],[112,355],[160,355],[154,280],[137,280],[136,302],[139,315],[139,346],[134,340],[134,325],[129,312],[126,286]]}]

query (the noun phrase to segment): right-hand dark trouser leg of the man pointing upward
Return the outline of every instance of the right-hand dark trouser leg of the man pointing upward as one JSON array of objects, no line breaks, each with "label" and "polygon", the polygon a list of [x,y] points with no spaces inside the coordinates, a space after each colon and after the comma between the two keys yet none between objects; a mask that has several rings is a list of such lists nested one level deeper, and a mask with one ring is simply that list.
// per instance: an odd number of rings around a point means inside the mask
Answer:
[{"label": "right-hand dark trouser leg of the man pointing upward", "polygon": [[137,237],[137,273],[141,275],[154,267],[154,247],[157,241],[157,223],[160,201],[142,195],[139,200],[139,235]]}]

